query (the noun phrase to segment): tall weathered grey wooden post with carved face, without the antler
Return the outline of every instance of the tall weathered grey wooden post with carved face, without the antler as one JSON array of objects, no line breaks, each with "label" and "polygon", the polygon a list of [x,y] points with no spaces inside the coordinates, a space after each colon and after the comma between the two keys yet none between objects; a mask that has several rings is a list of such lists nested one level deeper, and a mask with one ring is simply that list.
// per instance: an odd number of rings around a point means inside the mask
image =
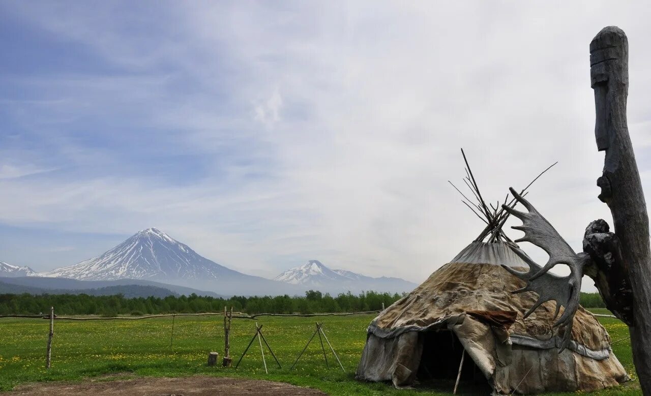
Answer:
[{"label": "tall weathered grey wooden post with carved face, without the antler", "polygon": [[644,192],[626,120],[628,38],[605,27],[590,42],[590,83],[594,89],[597,148],[605,151],[597,185],[613,215],[622,264],[630,274],[633,362],[644,395],[651,395],[651,250]]}]

